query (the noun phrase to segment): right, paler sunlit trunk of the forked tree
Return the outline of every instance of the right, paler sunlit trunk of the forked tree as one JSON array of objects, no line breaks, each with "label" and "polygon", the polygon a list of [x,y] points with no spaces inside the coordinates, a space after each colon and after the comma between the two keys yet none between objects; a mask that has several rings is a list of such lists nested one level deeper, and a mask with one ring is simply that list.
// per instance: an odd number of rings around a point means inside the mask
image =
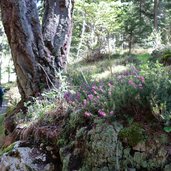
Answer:
[{"label": "right, paler sunlit trunk of the forked tree", "polygon": [[45,0],[43,38],[55,57],[58,69],[65,69],[70,49],[72,0]]}]

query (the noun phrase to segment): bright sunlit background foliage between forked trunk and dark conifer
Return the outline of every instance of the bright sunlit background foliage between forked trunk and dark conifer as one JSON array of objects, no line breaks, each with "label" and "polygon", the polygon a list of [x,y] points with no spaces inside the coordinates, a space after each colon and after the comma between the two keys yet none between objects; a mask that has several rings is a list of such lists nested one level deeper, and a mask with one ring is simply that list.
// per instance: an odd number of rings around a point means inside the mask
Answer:
[{"label": "bright sunlit background foliage between forked trunk and dark conifer", "polygon": [[76,26],[73,30],[71,48],[73,55],[79,51],[77,58],[87,56],[91,59],[113,51],[113,47],[109,47],[109,42],[114,41],[115,34],[121,28],[117,18],[123,12],[122,7],[119,1],[91,3],[76,1],[74,12]]}]

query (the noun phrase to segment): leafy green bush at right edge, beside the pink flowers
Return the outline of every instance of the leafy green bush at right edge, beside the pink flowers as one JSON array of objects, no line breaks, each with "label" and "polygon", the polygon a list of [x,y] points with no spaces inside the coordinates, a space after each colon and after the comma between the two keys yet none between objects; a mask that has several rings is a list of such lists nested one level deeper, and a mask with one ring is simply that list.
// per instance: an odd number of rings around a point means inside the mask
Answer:
[{"label": "leafy green bush at right edge, beside the pink flowers", "polygon": [[161,64],[145,64],[142,66],[142,75],[145,77],[143,96],[150,102],[153,115],[166,124],[171,121],[171,77],[170,73]]}]

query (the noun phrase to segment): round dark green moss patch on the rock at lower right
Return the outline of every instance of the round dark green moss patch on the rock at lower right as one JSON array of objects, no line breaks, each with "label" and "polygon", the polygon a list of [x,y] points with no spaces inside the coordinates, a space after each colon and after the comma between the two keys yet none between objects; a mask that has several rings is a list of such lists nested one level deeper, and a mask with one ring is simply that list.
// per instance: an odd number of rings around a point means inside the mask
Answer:
[{"label": "round dark green moss patch on the rock at lower right", "polygon": [[129,127],[123,128],[119,132],[119,137],[123,142],[127,143],[130,146],[137,145],[145,138],[143,128],[137,123],[133,123]]}]

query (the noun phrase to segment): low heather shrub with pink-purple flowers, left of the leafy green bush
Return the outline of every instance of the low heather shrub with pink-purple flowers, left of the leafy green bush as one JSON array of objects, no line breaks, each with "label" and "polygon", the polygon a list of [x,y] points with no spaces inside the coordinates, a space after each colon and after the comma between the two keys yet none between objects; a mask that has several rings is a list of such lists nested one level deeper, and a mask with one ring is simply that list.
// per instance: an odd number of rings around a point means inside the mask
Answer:
[{"label": "low heather shrub with pink-purple flowers, left of the leafy green bush", "polygon": [[144,77],[132,67],[110,80],[84,83],[76,93],[65,93],[64,98],[72,107],[81,109],[86,117],[113,116],[123,108],[135,109],[134,103],[137,103],[144,83]]}]

